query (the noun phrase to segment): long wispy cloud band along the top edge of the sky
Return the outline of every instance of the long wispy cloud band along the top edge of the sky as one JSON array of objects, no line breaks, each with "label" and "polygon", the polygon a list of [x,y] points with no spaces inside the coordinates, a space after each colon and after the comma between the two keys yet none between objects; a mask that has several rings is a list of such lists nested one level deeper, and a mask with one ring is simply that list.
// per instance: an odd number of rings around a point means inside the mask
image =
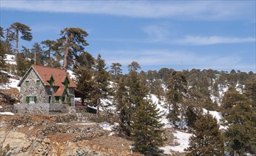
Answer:
[{"label": "long wispy cloud band along the top edge of the sky", "polygon": [[255,18],[255,1],[7,1],[1,9],[97,13],[140,18],[227,20]]}]

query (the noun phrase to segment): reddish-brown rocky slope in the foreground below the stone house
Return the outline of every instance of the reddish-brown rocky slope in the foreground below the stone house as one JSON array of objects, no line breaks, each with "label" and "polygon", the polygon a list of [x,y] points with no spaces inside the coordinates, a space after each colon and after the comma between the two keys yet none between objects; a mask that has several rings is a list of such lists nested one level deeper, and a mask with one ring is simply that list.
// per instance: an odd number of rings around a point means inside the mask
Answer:
[{"label": "reddish-brown rocky slope in the foreground below the stone house", "polygon": [[98,123],[62,122],[61,116],[0,115],[0,155],[139,155],[130,150],[132,141]]}]

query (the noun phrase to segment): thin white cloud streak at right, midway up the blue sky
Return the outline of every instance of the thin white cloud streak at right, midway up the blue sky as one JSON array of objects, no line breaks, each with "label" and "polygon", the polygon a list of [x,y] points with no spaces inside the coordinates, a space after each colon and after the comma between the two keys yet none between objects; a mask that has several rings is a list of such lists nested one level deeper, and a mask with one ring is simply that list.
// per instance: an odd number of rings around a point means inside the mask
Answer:
[{"label": "thin white cloud streak at right, midway up the blue sky", "polygon": [[248,38],[227,38],[222,36],[193,36],[187,35],[183,39],[173,40],[171,42],[177,43],[180,45],[214,45],[214,44],[222,44],[222,43],[252,43],[255,42],[256,39],[252,37]]}]

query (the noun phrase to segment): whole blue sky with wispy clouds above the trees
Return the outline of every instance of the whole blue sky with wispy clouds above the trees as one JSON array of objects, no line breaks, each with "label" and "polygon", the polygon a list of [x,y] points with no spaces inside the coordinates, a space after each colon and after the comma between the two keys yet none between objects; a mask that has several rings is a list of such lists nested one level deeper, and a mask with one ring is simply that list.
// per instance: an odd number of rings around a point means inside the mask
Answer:
[{"label": "whole blue sky with wispy clouds above the trees", "polygon": [[123,71],[137,61],[162,67],[256,72],[255,1],[1,0],[1,27],[24,23],[35,42],[60,38],[63,28],[86,30],[94,57]]}]

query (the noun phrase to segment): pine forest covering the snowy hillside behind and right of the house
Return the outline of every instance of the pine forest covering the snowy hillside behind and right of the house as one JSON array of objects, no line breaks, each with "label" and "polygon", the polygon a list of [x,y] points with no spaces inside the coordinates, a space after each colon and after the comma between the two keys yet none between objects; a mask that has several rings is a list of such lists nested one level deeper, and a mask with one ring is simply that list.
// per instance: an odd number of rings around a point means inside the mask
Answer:
[{"label": "pine forest covering the snowy hillside behind and right of the house", "polygon": [[[31,49],[21,46],[19,39],[31,42],[31,28],[13,23],[0,27],[0,84],[8,82],[5,74],[22,77],[31,65],[46,65],[71,69],[76,75],[78,90],[85,96],[83,105],[101,106],[101,99],[113,98],[118,115],[119,135],[135,141],[134,150],[145,155],[160,155],[163,145],[163,124],[155,104],[145,99],[155,94],[165,99],[168,118],[183,129],[183,121],[193,132],[188,155],[245,155],[256,154],[256,74],[232,69],[230,72],[214,69],[175,71],[162,68],[144,72],[138,62],[128,65],[123,74],[122,65],[113,62],[110,69],[98,54],[94,58],[86,52],[88,33],[81,28],[63,28],[60,38],[31,43]],[[7,65],[6,54],[15,55],[16,65]],[[113,82],[113,87],[109,87]],[[228,88],[224,96],[223,89]],[[201,108],[222,113],[220,131],[217,121]]]}]

